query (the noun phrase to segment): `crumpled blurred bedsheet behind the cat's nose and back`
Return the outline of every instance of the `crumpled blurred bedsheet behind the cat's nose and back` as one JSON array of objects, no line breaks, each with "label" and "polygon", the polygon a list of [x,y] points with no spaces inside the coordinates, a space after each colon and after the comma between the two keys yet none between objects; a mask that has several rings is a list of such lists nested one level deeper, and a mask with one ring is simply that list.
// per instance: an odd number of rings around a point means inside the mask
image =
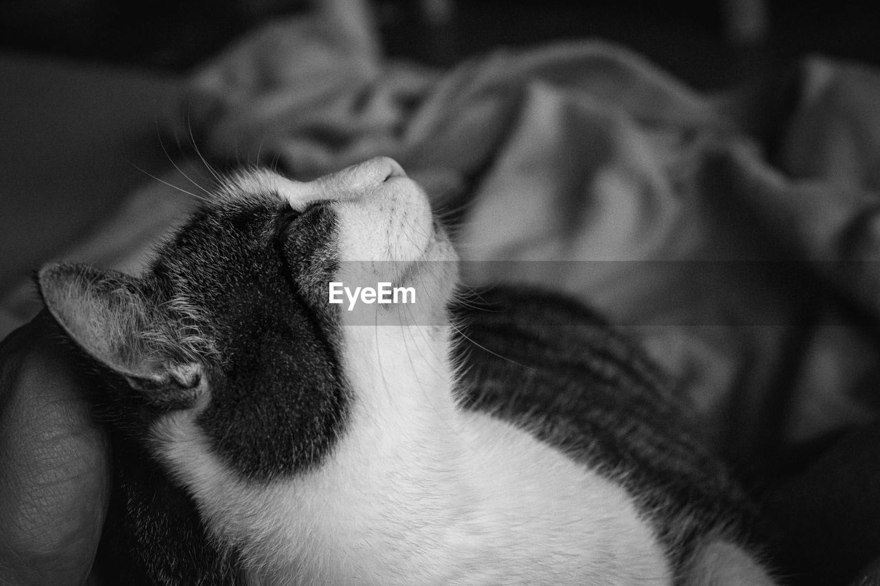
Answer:
[{"label": "crumpled blurred bedsheet behind the cat's nose and back", "polygon": [[877,104],[880,72],[821,56],[708,95],[595,40],[442,71],[297,18],[198,71],[183,118],[213,160],[297,179],[395,157],[467,282],[597,307],[760,472],[880,408]]}]

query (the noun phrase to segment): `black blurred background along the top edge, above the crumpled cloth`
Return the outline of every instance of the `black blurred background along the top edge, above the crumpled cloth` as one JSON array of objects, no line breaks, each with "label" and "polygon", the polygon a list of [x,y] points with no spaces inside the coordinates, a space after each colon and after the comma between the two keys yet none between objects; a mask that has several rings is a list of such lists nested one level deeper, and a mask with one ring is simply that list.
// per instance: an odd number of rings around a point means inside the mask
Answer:
[{"label": "black blurred background along the top edge, above the crumpled cloth", "polygon": [[[700,88],[784,68],[818,52],[877,62],[872,4],[796,0],[371,0],[386,50],[447,64],[498,45],[598,36],[618,40]],[[737,40],[731,11],[763,7],[766,34]],[[0,48],[185,71],[304,0],[0,0]],[[431,18],[431,7],[447,18]],[[748,18],[748,17],[746,17]],[[433,22],[431,22],[433,20]]]}]

